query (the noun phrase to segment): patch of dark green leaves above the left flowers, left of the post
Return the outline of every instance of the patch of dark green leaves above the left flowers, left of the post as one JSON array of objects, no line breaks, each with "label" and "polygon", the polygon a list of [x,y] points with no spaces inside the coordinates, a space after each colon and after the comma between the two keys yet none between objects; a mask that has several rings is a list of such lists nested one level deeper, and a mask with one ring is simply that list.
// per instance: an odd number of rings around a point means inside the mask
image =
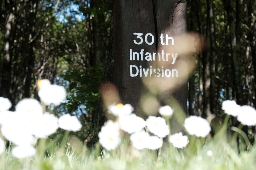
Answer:
[{"label": "patch of dark green leaves above the left flowers, left of the post", "polygon": [[86,72],[73,68],[65,72],[64,80],[69,82],[67,108],[69,112],[86,106],[86,113],[94,111],[100,102],[99,87],[103,82],[104,63],[90,67]]}]

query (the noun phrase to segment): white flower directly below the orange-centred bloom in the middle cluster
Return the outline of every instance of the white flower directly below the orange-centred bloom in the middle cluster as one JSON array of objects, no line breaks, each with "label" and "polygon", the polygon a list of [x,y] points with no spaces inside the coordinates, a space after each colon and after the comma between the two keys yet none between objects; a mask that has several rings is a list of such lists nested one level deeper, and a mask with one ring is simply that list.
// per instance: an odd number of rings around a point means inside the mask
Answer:
[{"label": "white flower directly below the orange-centred bloom in the middle cluster", "polygon": [[146,121],[135,114],[119,116],[118,122],[120,128],[130,134],[141,131],[146,126]]}]

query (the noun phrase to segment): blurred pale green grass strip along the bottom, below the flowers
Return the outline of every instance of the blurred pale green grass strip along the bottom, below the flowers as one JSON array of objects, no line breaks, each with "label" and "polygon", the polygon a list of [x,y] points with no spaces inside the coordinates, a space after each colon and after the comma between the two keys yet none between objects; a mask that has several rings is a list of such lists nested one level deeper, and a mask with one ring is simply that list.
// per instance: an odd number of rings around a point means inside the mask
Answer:
[{"label": "blurred pale green grass strip along the bottom, below the flowers", "polygon": [[[65,147],[60,147],[55,140],[48,141],[43,146],[46,147],[44,154],[38,152],[26,159],[14,158],[10,146],[0,156],[0,169],[255,169],[256,146],[246,146],[241,136],[239,144],[230,142],[231,136],[226,134],[219,132],[206,140],[190,136],[190,143],[184,149],[168,147],[167,143],[158,158],[155,151],[133,149],[127,140],[129,136],[111,152],[101,150],[99,143],[94,148],[87,148],[71,136],[70,144],[66,143]],[[40,151],[39,144],[37,149]],[[212,151],[212,156],[207,155],[208,150]]]}]

